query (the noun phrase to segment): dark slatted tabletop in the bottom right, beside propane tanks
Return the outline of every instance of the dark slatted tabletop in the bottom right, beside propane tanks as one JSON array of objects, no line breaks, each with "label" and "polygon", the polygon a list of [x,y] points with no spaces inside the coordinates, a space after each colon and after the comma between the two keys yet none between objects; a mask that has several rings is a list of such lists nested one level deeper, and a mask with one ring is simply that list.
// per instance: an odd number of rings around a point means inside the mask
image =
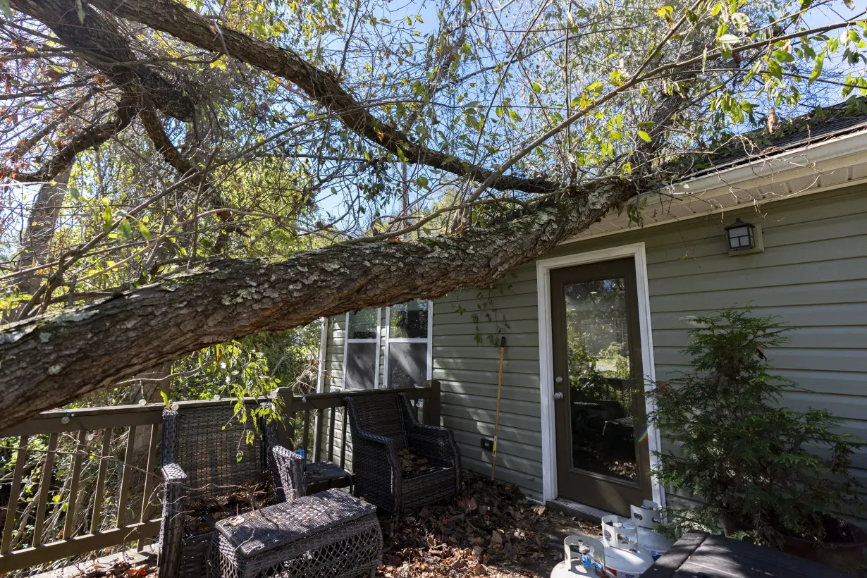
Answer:
[{"label": "dark slatted tabletop in the bottom right, beside propane tanks", "polygon": [[828,568],[724,536],[688,531],[642,578],[852,578]]}]

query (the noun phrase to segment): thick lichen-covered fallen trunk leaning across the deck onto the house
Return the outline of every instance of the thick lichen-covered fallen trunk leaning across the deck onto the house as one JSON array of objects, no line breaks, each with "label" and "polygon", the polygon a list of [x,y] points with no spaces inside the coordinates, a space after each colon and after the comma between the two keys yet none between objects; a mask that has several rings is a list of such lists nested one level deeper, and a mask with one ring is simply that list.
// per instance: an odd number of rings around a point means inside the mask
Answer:
[{"label": "thick lichen-covered fallen trunk leaning across the deck onto the house", "polygon": [[211,263],[0,331],[0,429],[202,347],[323,315],[489,285],[639,192],[604,179],[454,237],[332,245],[280,262]]}]

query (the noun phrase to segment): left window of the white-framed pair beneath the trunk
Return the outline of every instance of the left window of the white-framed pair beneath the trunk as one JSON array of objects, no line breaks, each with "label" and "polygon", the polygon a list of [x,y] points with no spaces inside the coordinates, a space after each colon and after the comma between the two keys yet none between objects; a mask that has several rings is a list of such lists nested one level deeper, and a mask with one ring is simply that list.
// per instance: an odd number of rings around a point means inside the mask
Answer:
[{"label": "left window of the white-framed pair beneath the trunk", "polygon": [[346,314],[343,389],[375,389],[379,386],[379,336],[379,309]]}]

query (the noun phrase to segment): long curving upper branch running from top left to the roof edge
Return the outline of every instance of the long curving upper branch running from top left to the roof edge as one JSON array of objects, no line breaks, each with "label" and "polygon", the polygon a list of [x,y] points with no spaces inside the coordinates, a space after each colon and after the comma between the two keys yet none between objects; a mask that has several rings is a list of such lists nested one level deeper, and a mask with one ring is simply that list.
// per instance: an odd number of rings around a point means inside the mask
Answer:
[{"label": "long curving upper branch running from top left to the roof edge", "polygon": [[[20,0],[19,0],[20,1]],[[484,181],[500,191],[554,192],[560,186],[545,179],[525,179],[497,174],[452,155],[420,146],[398,128],[381,122],[364,104],[344,89],[335,75],[316,68],[290,49],[218,26],[174,0],[90,0],[101,10],[167,32],[202,49],[228,55],[293,82],[304,93],[336,115],[349,130],[403,155],[413,163]]]}]

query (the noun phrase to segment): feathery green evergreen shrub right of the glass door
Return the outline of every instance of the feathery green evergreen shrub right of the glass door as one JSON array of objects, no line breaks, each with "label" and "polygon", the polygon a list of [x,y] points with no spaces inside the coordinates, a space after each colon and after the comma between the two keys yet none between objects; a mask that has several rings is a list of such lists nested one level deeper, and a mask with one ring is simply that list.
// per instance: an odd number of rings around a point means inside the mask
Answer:
[{"label": "feathery green evergreen shrub right of the glass door", "polygon": [[649,417],[671,448],[654,475],[703,500],[671,509],[669,524],[778,549],[785,535],[822,540],[831,512],[861,505],[849,468],[864,444],[838,433],[841,419],[829,412],[780,406],[783,390],[797,386],[770,373],[766,349],[787,341],[776,318],[726,309],[694,321],[684,351],[692,371],[651,394]]}]

